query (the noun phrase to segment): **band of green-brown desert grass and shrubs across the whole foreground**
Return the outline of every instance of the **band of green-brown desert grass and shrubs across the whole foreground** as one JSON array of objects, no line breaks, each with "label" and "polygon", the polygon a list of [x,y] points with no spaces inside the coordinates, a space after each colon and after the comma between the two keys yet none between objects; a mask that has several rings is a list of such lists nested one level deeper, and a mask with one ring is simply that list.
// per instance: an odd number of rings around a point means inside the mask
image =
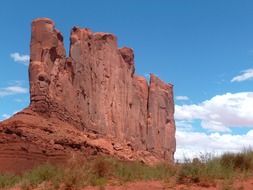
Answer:
[{"label": "band of green-brown desert grass and shrubs across the whole foreground", "polygon": [[193,160],[173,165],[148,166],[141,162],[120,161],[111,157],[89,159],[74,158],[65,165],[49,163],[38,166],[21,175],[1,174],[0,189],[20,187],[30,190],[40,189],[81,189],[85,186],[105,186],[140,180],[171,181],[175,184],[198,183],[210,186],[222,181],[224,189],[234,179],[253,175],[253,151],[225,153],[220,157],[201,155]]}]

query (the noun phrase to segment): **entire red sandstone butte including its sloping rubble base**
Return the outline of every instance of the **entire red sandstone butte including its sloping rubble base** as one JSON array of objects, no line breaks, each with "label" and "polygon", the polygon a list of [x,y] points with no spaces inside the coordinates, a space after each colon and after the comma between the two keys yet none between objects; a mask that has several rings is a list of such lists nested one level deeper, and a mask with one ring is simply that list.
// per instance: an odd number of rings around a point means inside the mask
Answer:
[{"label": "entire red sandstone butte including its sloping rubble base", "polygon": [[29,80],[29,107],[0,123],[0,171],[75,153],[173,161],[173,86],[135,75],[133,50],[114,35],[74,27],[66,56],[54,22],[34,20]]}]

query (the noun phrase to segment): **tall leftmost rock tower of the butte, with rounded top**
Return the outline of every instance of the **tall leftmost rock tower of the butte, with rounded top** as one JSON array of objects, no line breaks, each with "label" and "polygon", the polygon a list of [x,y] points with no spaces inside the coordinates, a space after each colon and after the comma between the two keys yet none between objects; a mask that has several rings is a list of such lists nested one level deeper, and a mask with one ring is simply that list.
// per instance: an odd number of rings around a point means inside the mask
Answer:
[{"label": "tall leftmost rock tower of the butte, with rounded top", "polygon": [[48,113],[50,104],[49,86],[54,62],[65,58],[63,37],[54,28],[50,19],[36,19],[32,22],[30,43],[30,99],[34,111]]}]

